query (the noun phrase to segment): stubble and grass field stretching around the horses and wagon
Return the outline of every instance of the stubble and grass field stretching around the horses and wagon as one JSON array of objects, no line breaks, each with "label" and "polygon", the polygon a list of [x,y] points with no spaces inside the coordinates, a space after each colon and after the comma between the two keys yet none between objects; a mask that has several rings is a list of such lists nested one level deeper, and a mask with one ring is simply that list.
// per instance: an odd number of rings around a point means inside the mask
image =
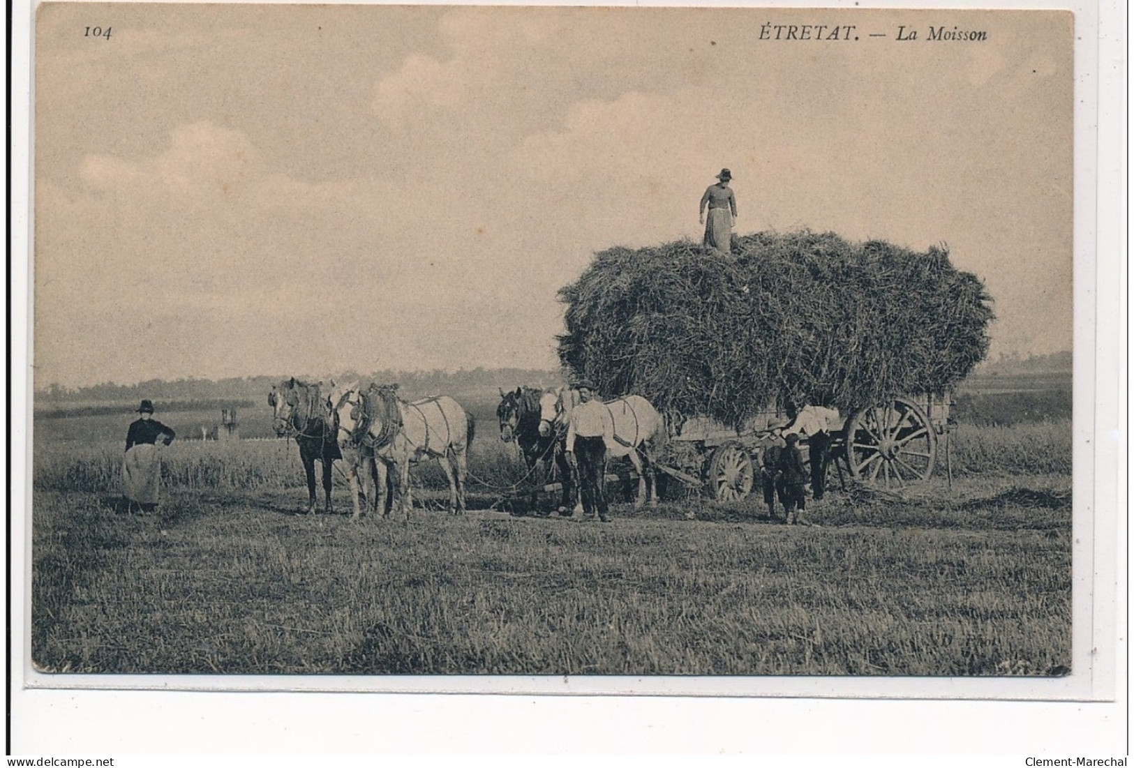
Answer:
[{"label": "stubble and grass field stretching around the horses and wagon", "polygon": [[[108,418],[91,413],[86,418]],[[109,418],[115,418],[110,416]],[[36,440],[32,657],[46,672],[1059,675],[1070,423],[962,424],[953,487],[852,486],[813,527],[677,492],[609,524],[493,511],[523,476],[482,420],[474,511],[415,470],[408,523],[305,506],[295,444],[178,441],[160,514],[122,445]],[[36,425],[37,435],[39,423]],[[837,485],[832,473],[831,484]],[[336,475],[337,511],[350,509]],[[685,520],[688,510],[696,521]]]}]

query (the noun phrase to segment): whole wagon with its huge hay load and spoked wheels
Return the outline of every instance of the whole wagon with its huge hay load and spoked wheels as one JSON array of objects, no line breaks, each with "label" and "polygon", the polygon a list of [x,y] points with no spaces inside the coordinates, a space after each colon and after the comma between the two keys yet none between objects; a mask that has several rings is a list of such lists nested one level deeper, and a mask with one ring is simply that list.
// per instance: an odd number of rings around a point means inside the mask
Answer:
[{"label": "whole wagon with its huge hay load and spoked wheels", "polygon": [[793,403],[845,416],[831,455],[852,478],[898,487],[928,479],[940,453],[948,467],[951,392],[993,318],[943,246],[807,230],[734,237],[730,255],[612,248],[559,298],[565,370],[650,400],[671,425],[659,469],[723,501],[752,490]]}]

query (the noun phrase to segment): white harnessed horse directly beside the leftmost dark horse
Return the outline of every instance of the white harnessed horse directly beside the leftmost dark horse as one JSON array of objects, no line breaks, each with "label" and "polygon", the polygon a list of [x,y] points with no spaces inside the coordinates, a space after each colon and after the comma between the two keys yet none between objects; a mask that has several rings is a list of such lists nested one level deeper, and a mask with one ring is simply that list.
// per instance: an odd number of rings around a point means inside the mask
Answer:
[{"label": "white harnessed horse directly beside the leftmost dark horse", "polygon": [[[397,396],[397,385],[352,389],[337,404],[339,428],[347,429],[359,449],[373,451],[382,497],[381,468],[392,472],[398,514],[409,517],[409,464],[437,459],[449,480],[449,511],[465,511],[465,480],[468,446],[476,423],[460,404],[447,395],[406,402]],[[376,501],[375,498],[375,501]]]}]

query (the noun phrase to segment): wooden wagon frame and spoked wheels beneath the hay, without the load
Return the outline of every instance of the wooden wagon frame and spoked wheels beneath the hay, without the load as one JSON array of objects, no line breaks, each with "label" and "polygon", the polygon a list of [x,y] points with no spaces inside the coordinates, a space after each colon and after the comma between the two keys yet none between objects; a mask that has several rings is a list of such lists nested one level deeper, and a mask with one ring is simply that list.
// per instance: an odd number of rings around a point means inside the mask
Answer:
[{"label": "wooden wagon frame and spoked wheels beneath the hay, without the load", "polygon": [[[948,395],[898,396],[869,406],[845,418],[832,430],[831,458],[841,478],[850,477],[886,488],[928,480],[945,453],[949,466]],[[704,417],[675,425],[658,469],[688,487],[702,488],[718,501],[746,497],[756,480],[763,452],[782,444],[778,429],[788,416],[770,407],[748,419],[743,428],[729,429]],[[807,441],[799,443],[807,458]]]}]

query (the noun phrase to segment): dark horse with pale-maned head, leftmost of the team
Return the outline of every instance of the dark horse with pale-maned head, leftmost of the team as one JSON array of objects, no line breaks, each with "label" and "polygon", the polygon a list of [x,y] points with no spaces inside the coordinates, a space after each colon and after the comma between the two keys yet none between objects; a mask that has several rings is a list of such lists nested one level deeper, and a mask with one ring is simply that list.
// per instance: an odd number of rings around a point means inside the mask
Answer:
[{"label": "dark horse with pale-maned head, leftmost of the team", "polygon": [[331,514],[331,466],[336,459],[342,458],[336,440],[337,416],[320,395],[320,386],[293,377],[272,386],[268,393],[276,434],[294,437],[299,446],[299,461],[307,476],[307,514],[315,512],[315,460],[323,464],[327,514]]}]

